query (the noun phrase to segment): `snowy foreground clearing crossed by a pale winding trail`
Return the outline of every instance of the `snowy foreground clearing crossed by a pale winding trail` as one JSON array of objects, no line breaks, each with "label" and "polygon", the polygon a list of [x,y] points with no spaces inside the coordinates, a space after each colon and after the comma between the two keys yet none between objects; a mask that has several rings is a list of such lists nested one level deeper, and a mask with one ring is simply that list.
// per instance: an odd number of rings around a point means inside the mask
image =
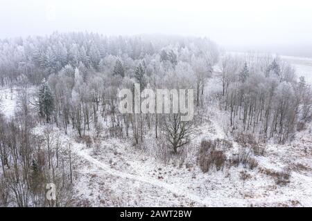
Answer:
[{"label": "snowy foreground clearing crossed by a pale winding trail", "polygon": [[[219,130],[216,122],[207,123],[198,137],[223,137]],[[304,146],[311,151],[311,134],[304,139],[310,142]],[[194,140],[191,148],[198,148],[200,140]],[[312,205],[311,152],[304,155],[303,146],[271,145],[264,157],[257,158],[259,168],[253,171],[239,166],[208,173],[202,173],[195,162],[158,162],[130,140],[105,140],[96,154],[92,148],[80,147],[76,153],[83,161],[76,191],[82,202],[92,206]],[[304,168],[294,168],[286,186],[259,172],[262,168],[280,171],[288,164],[303,164]],[[249,180],[240,179],[242,171],[250,174]]]}]

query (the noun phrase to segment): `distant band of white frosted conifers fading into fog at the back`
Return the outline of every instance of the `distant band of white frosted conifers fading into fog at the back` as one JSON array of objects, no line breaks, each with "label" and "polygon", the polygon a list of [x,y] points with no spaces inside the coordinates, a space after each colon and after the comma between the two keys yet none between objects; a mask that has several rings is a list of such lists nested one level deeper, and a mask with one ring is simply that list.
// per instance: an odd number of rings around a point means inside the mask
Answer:
[{"label": "distant band of white frosted conifers fading into fog at the back", "polygon": [[[58,33],[46,37],[0,40],[0,85],[24,80],[40,84],[42,79],[69,65],[97,72],[110,56],[125,60],[144,59],[161,54],[177,61],[177,51],[185,48],[209,51],[218,57],[216,44],[209,39],[141,35],[105,37],[88,32]],[[163,51],[162,51],[163,50]]]}]

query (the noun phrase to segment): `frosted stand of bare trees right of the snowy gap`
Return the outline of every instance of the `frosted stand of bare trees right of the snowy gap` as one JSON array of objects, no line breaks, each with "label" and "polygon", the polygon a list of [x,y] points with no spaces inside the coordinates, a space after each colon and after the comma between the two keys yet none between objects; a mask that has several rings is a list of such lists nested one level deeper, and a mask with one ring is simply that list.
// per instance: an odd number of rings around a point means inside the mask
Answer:
[{"label": "frosted stand of bare trees right of the snowy gap", "polygon": [[311,120],[309,84],[304,77],[297,81],[295,70],[279,57],[227,55],[221,69],[223,107],[232,131],[285,142],[298,123]]}]

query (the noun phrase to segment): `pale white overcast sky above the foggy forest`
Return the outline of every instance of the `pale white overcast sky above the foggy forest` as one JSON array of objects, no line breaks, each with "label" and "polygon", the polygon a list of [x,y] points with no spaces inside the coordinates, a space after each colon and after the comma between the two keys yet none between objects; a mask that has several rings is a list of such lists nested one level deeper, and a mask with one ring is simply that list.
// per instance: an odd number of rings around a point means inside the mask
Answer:
[{"label": "pale white overcast sky above the foggy forest", "polygon": [[[312,3],[248,0],[0,0],[0,38],[54,30],[206,36],[228,48],[312,46]],[[257,48],[258,47],[258,48]]]}]

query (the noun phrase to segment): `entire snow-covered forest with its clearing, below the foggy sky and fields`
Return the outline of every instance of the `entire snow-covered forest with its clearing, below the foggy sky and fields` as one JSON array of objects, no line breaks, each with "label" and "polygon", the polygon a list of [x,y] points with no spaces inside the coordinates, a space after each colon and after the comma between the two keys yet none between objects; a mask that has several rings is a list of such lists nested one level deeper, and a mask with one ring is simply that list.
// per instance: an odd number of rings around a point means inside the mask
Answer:
[{"label": "entire snow-covered forest with its clearing, below the foggy sky and fields", "polygon": [[[193,119],[121,113],[135,84],[193,89]],[[277,55],[166,35],[0,40],[0,206],[312,206],[311,131],[311,82]]]}]

